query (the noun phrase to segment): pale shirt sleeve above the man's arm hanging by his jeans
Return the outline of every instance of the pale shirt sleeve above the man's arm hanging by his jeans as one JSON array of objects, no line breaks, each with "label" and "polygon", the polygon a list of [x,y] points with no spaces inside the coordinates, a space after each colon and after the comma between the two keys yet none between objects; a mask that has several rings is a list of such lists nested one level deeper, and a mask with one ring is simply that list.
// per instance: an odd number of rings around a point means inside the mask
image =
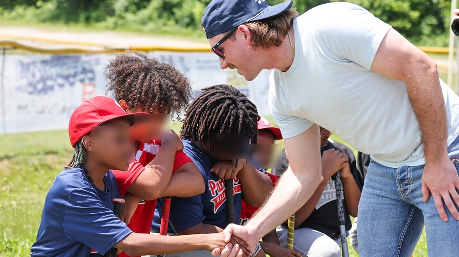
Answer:
[{"label": "pale shirt sleeve above the man's arm hanging by his jeans", "polygon": [[370,69],[376,52],[391,26],[352,3],[324,8],[318,15],[318,41],[331,58],[352,61]]}]

